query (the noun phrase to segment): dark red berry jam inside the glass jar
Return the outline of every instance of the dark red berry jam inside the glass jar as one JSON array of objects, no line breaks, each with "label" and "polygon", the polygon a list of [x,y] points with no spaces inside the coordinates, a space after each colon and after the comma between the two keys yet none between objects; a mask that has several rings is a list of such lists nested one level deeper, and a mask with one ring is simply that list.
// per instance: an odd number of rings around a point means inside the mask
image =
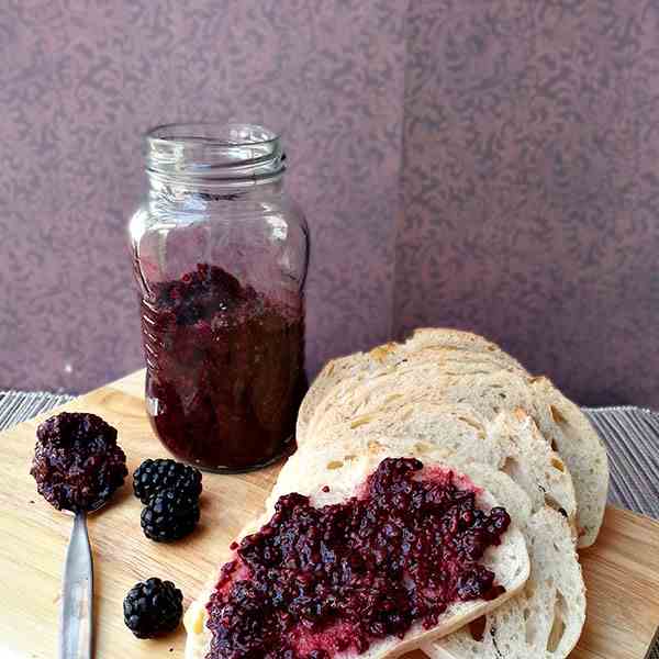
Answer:
[{"label": "dark red berry jam inside the glass jar", "polygon": [[305,387],[301,309],[200,264],[152,284],[143,337],[147,411],[174,455],[241,470],[282,453]]}]

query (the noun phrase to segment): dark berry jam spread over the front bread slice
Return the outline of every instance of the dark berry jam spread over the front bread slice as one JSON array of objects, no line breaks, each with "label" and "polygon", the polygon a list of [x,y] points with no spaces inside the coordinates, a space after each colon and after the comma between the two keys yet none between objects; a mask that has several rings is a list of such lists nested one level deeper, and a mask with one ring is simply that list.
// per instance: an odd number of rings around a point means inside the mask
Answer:
[{"label": "dark berry jam spread over the front bread slice", "polygon": [[476,505],[477,491],[412,458],[383,460],[359,496],[316,509],[281,496],[243,539],[208,604],[206,659],[323,659],[364,652],[449,604],[489,597],[479,560],[510,517]]}]

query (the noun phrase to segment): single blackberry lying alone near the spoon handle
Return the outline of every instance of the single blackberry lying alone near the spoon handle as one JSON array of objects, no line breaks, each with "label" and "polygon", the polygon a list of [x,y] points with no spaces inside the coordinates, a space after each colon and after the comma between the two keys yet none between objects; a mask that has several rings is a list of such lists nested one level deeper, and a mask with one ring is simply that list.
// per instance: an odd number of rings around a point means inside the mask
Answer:
[{"label": "single blackberry lying alone near the spoon handle", "polygon": [[136,583],[124,599],[124,623],[137,638],[174,632],[183,615],[183,594],[157,577]]}]

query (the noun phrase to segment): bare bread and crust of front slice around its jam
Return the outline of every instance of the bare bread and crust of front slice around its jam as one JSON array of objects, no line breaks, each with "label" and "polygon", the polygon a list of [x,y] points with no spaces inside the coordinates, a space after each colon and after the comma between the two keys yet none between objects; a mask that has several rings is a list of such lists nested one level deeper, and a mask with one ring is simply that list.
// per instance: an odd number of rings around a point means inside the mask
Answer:
[{"label": "bare bread and crust of front slice around its jam", "polygon": [[[310,495],[312,503],[316,506],[337,503],[357,494],[366,478],[375,471],[382,459],[398,456],[390,448],[378,445],[372,446],[368,453],[356,456],[353,460],[344,460],[346,451],[349,450],[349,447],[336,444],[327,447],[325,456],[316,455],[314,457],[312,454],[295,454],[291,460],[297,462],[295,472],[298,477],[291,481],[291,487],[287,487],[278,481],[275,488],[277,495],[272,495],[268,500],[268,507],[260,523],[271,516],[273,513],[273,503],[280,494],[292,491],[300,492],[301,494]],[[343,462],[339,470],[327,469],[326,465],[328,462],[336,462],[339,459]],[[424,458],[424,465],[426,467],[450,468],[450,466],[433,460],[432,456]],[[484,470],[484,468],[481,468],[481,470]],[[501,476],[493,478],[494,480],[498,478],[500,482],[502,481]],[[332,487],[328,492],[324,492],[323,485],[327,484],[330,479]],[[474,484],[479,485],[478,482]],[[510,500],[513,501],[513,498],[510,496]],[[490,510],[493,505],[498,504],[493,496],[485,490],[480,491],[477,502],[484,510]],[[258,528],[260,523],[252,525],[249,530]],[[422,643],[431,643],[440,636],[455,632],[471,619],[501,606],[505,601],[514,596],[515,593],[520,592],[528,578],[529,562],[524,537],[514,522],[504,534],[501,545],[488,549],[481,562],[494,571],[496,583],[504,587],[504,593],[490,602],[476,600],[473,602],[455,603],[449,606],[447,612],[439,618],[438,624],[432,629],[423,629],[420,624],[416,624],[405,634],[403,639],[395,637],[375,643],[368,651],[359,655],[359,657],[365,657],[366,659],[399,657],[409,650],[417,648]],[[211,636],[205,627],[205,603],[209,601],[211,592],[212,588],[211,590],[204,590],[200,599],[190,606],[186,614],[185,625],[188,632],[186,659],[202,659],[210,647]],[[343,652],[336,657],[337,659],[347,659],[355,655]]]}]

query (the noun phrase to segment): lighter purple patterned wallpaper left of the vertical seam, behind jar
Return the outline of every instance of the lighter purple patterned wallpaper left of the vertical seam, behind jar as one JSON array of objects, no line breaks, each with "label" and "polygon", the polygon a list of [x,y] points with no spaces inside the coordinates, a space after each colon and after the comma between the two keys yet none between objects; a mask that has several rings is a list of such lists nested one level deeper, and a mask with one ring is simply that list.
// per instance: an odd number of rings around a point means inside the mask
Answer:
[{"label": "lighter purple patterned wallpaper left of the vertical seam, behind jar", "polygon": [[171,121],[281,129],[313,234],[312,370],[389,336],[405,3],[0,12],[0,388],[80,391],[142,365],[124,227],[145,185],[141,135]]}]

